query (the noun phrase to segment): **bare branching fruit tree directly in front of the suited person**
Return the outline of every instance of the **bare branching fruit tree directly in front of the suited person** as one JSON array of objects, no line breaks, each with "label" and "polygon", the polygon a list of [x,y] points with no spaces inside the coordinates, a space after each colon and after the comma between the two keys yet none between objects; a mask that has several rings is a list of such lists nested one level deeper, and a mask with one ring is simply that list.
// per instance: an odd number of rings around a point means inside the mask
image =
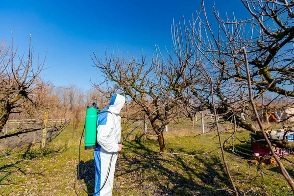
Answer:
[{"label": "bare branching fruit tree directly in front of the suited person", "polygon": [[[158,138],[160,150],[166,152],[163,131],[166,125],[179,114],[174,108],[175,104],[168,98],[172,96],[169,94],[172,89],[176,88],[177,79],[175,78],[174,82],[167,83],[168,86],[165,86],[166,97],[160,90],[154,65],[149,65],[143,54],[140,59],[136,59],[134,55],[126,58],[118,53],[114,57],[112,54],[108,56],[106,52],[103,62],[96,53],[91,58],[105,78],[104,82],[95,84],[97,89],[102,93],[107,92],[109,97],[114,92],[122,92],[131,98],[133,103],[139,105],[141,111],[135,115],[135,120],[142,120],[149,116],[148,120]],[[108,85],[113,85],[114,88],[107,88]],[[177,109],[180,110],[180,108]]]}]

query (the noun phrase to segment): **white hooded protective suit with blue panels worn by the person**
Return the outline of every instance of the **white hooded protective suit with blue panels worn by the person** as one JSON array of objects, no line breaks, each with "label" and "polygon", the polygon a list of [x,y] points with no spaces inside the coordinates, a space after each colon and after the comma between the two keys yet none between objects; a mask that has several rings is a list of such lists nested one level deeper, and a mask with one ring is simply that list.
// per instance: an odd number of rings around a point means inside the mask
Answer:
[{"label": "white hooded protective suit with blue panels worn by the person", "polygon": [[123,108],[125,98],[119,94],[112,97],[107,108],[101,110],[97,120],[97,143],[94,150],[95,161],[95,193],[100,190],[105,182],[111,155],[111,168],[107,181],[102,190],[95,196],[111,196],[113,188],[113,178],[115,164],[118,157],[119,145],[121,141],[121,117],[119,113]]}]

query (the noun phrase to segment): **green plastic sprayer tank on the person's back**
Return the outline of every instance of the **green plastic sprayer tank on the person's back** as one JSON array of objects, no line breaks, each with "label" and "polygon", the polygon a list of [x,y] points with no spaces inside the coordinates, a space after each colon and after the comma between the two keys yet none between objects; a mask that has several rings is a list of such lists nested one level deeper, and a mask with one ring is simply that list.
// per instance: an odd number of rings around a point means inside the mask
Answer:
[{"label": "green plastic sprayer tank on the person's back", "polygon": [[85,149],[95,149],[98,112],[99,109],[96,103],[87,106],[85,120]]}]

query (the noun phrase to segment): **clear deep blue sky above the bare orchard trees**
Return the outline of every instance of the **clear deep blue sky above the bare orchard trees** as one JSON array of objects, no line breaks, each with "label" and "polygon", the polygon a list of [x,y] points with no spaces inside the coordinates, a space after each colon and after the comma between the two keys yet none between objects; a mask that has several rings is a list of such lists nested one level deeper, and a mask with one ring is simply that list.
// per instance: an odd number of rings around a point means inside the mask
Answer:
[{"label": "clear deep blue sky above the bare orchard trees", "polygon": [[[213,17],[213,0],[205,0],[210,18]],[[56,86],[76,84],[90,90],[92,81],[101,81],[101,73],[91,67],[89,52],[103,56],[117,50],[127,55],[147,56],[172,47],[172,20],[187,20],[199,10],[201,0],[1,0],[0,40],[19,45],[19,54],[27,52],[29,35],[32,46],[42,58],[46,48],[47,59],[44,77]],[[242,16],[247,14],[239,0],[216,0],[222,16],[226,12]],[[211,10],[211,11],[210,11]],[[236,13],[237,12],[237,13]]]}]

